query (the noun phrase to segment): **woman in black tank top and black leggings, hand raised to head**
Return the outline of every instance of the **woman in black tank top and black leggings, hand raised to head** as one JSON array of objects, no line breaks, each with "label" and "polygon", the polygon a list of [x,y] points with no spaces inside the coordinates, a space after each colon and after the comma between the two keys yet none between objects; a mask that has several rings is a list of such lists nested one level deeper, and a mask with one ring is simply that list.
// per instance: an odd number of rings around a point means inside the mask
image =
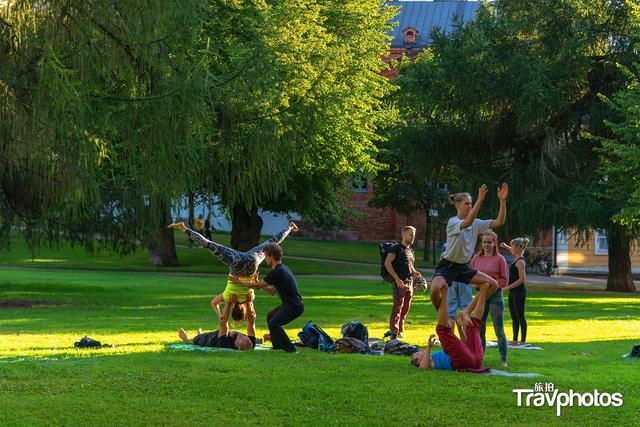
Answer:
[{"label": "woman in black tank top and black leggings, hand raised to head", "polygon": [[[509,285],[504,289],[509,290],[509,313],[513,324],[512,345],[520,345],[527,342],[527,319],[524,317],[524,305],[527,299],[527,287],[524,282],[527,278],[525,272],[525,261],[522,254],[529,244],[526,237],[518,237],[511,241],[510,245],[505,243],[502,247],[507,249],[515,257],[515,261],[509,266]],[[522,341],[518,341],[518,332],[522,331]]]}]

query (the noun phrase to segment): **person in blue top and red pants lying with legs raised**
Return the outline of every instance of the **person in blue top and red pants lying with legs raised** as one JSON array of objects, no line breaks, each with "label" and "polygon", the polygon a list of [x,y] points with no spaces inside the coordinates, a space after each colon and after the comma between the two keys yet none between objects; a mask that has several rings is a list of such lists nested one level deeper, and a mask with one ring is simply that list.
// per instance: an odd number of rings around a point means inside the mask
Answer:
[{"label": "person in blue top and red pants lying with legs raised", "polygon": [[440,338],[442,350],[431,354],[435,335],[429,337],[427,349],[419,351],[411,356],[411,363],[422,369],[478,369],[482,365],[484,353],[480,340],[479,326],[484,314],[484,305],[487,296],[492,295],[497,287],[494,284],[482,283],[480,291],[476,294],[471,304],[462,310],[458,316],[458,326],[465,330],[467,342],[463,343],[453,333],[449,326],[449,309],[447,305],[447,287],[440,290],[440,305],[438,307],[438,325],[436,332]]}]

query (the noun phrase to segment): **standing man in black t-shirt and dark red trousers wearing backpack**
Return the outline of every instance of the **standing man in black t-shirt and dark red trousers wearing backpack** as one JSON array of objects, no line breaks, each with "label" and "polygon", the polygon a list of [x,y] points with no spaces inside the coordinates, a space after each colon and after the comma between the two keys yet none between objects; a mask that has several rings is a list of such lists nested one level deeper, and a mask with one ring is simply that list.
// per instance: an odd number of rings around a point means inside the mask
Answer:
[{"label": "standing man in black t-shirt and dark red trousers wearing backpack", "polygon": [[400,230],[402,241],[389,250],[384,266],[391,276],[393,309],[389,318],[389,334],[403,338],[404,321],[411,308],[413,279],[422,277],[414,267],[415,255],[411,245],[416,238],[416,229],[410,225]]}]

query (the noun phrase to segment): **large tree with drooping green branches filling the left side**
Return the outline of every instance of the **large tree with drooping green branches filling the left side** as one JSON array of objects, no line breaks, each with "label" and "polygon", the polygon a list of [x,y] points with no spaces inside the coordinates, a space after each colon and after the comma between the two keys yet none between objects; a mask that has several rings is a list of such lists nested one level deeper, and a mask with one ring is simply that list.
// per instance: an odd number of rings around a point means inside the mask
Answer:
[{"label": "large tree with drooping green branches filling the left side", "polygon": [[210,130],[202,1],[0,4],[2,239],[44,236],[175,264],[170,207]]}]

